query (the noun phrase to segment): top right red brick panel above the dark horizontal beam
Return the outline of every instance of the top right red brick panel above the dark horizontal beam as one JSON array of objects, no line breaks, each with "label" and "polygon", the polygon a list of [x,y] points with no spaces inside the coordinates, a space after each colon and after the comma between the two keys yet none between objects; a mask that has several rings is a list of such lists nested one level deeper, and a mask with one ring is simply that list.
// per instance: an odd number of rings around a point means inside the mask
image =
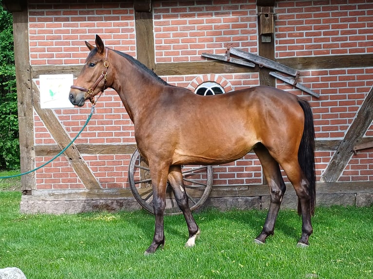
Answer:
[{"label": "top right red brick panel above the dark horizontal beam", "polygon": [[371,0],[277,0],[275,12],[276,57],[373,52]]}]

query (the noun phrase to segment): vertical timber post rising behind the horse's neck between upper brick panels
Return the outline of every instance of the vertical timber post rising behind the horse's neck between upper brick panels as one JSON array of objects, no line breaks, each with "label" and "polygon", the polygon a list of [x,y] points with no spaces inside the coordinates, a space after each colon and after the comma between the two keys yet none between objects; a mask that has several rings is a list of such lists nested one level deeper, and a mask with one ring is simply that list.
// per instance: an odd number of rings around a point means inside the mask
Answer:
[{"label": "vertical timber post rising behind the horse's neck between upper brick panels", "polygon": [[139,60],[149,69],[154,70],[155,53],[153,34],[153,13],[151,12],[151,9],[148,12],[138,12],[135,10],[135,29],[137,60]]}]

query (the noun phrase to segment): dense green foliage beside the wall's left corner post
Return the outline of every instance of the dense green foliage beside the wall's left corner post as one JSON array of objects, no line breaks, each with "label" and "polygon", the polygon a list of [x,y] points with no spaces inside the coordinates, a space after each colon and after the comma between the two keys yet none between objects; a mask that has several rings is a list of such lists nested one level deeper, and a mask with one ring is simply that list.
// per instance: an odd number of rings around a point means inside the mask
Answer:
[{"label": "dense green foliage beside the wall's left corner post", "polygon": [[19,132],[12,14],[0,0],[0,169],[19,168]]}]

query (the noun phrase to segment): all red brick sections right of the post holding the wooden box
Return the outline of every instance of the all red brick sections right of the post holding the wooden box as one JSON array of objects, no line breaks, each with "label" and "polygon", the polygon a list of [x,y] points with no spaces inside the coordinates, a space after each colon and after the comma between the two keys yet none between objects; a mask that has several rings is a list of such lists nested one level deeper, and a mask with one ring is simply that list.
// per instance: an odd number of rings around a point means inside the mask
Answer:
[{"label": "all red brick sections right of the post holding the wooden box", "polygon": [[[373,53],[370,0],[276,1],[277,58]],[[320,94],[313,106],[318,139],[343,139],[373,86],[373,67],[302,71],[300,82]],[[278,87],[303,95],[277,81]],[[366,132],[372,137],[373,125]],[[317,152],[317,174],[334,152]],[[372,181],[372,149],[354,155],[339,181]]]}]

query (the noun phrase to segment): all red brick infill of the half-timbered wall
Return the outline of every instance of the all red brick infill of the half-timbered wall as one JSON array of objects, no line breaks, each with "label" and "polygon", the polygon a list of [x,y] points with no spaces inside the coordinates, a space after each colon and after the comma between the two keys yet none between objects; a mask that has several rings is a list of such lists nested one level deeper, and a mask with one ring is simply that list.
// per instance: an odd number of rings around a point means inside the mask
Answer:
[{"label": "all red brick infill of the half-timbered wall", "polygon": [[[39,3],[40,2],[40,3]],[[99,34],[105,44],[136,55],[134,12],[131,1],[94,4],[41,3],[29,6],[31,65],[82,64]],[[70,1],[69,1],[70,2]],[[222,54],[234,46],[258,52],[255,0],[152,1],[156,62],[205,60],[202,52]],[[372,53],[373,4],[369,0],[276,1],[276,57]],[[203,81],[218,81],[226,91],[259,85],[258,73],[182,75],[162,77],[168,83],[194,89]],[[373,86],[373,67],[301,71],[300,82],[320,94],[311,97],[277,81],[277,87],[308,99],[315,114],[317,139],[340,140]],[[56,109],[57,118],[71,138],[90,112],[89,105]],[[373,126],[366,136],[373,136]],[[54,144],[35,113],[35,143]],[[76,143],[135,143],[133,125],[114,91],[101,97],[86,130]],[[318,178],[334,151],[318,151]],[[372,150],[354,155],[340,181],[373,180]],[[128,187],[129,155],[83,155],[104,188]],[[37,157],[37,166],[50,157]],[[252,154],[214,167],[214,185],[261,183],[261,166]],[[65,157],[37,172],[37,189],[83,188]]]}]

